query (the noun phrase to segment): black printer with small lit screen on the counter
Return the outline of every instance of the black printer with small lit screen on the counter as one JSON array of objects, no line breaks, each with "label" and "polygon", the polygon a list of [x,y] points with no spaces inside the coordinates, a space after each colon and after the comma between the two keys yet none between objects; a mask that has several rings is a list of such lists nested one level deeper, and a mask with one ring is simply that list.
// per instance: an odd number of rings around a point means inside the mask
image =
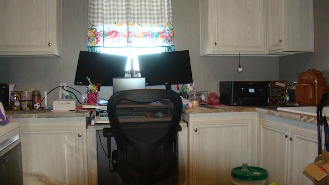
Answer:
[{"label": "black printer with small lit screen on the counter", "polygon": [[231,106],[267,106],[268,81],[220,82],[220,102]]}]

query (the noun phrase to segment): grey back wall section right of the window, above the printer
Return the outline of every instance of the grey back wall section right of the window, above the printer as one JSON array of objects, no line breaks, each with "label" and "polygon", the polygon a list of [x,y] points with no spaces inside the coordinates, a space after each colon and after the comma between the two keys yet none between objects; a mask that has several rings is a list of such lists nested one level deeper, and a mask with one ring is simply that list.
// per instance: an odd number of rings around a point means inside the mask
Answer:
[{"label": "grey back wall section right of the window, above the printer", "polygon": [[279,58],[241,57],[243,72],[237,72],[239,57],[200,57],[199,1],[174,0],[176,50],[189,50],[194,86],[219,93],[220,81],[279,79]]}]

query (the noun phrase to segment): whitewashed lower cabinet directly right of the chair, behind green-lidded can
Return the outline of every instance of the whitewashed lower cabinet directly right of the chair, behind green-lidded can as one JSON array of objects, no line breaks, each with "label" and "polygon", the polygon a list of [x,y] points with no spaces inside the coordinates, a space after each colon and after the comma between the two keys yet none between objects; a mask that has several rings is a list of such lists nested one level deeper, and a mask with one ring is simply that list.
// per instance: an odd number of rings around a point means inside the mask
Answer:
[{"label": "whitewashed lower cabinet directly right of the chair, behind green-lidded can", "polygon": [[254,112],[182,114],[189,128],[189,183],[230,184],[231,170],[255,162]]}]

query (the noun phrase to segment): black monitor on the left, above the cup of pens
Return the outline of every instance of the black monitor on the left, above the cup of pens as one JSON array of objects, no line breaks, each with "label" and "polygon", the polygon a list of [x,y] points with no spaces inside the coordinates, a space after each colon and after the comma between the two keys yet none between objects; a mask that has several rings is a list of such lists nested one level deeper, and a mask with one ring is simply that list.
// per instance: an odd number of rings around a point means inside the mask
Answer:
[{"label": "black monitor on the left, above the cup of pens", "polygon": [[80,51],[74,84],[89,84],[89,77],[95,84],[112,86],[112,78],[124,77],[127,60],[122,55]]}]

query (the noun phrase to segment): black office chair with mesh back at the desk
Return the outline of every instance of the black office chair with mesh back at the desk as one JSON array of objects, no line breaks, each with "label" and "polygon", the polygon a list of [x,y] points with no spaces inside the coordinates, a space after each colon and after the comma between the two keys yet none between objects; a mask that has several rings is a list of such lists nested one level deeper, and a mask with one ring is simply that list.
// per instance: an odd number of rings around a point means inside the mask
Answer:
[{"label": "black office chair with mesh back at the desk", "polygon": [[166,89],[123,90],[107,104],[111,128],[103,129],[114,170],[127,182],[153,184],[168,179],[177,167],[177,131],[182,102]]}]

